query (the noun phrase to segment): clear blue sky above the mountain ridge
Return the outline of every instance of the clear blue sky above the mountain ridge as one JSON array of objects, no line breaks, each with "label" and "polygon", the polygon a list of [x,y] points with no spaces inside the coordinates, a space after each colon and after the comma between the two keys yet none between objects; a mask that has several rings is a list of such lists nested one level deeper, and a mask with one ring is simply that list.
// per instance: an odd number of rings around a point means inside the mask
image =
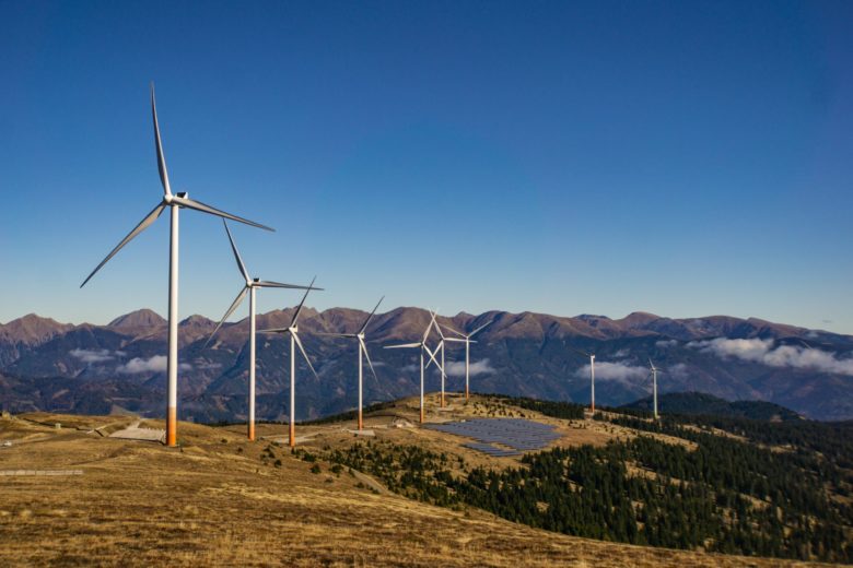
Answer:
[{"label": "clear blue sky above the mountain ridge", "polygon": [[[160,199],[153,80],[173,189],[278,228],[234,235],[318,308],[853,333],[851,29],[848,1],[0,2],[0,321],[165,313],[165,216],[78,288]],[[230,255],[182,216],[182,317],[224,311]]]}]

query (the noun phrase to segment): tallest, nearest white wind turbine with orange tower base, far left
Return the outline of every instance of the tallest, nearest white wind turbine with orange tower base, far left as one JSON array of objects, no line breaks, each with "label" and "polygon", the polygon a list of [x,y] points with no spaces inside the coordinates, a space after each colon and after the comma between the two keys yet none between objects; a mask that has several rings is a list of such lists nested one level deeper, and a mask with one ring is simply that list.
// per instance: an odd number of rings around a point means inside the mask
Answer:
[{"label": "tallest, nearest white wind turbine with orange tower base, far left", "polygon": [[160,203],[151,210],[151,212],[144,216],[144,218],[137,225],[133,230],[121,239],[121,242],[114,248],[109,255],[106,256],[101,264],[95,267],[95,270],[86,276],[86,280],[80,285],[82,288],[85,286],[95,273],[106,264],[109,259],[116,256],[121,248],[133,240],[133,238],[145,230],[157,217],[163,213],[166,208],[170,208],[172,216],[172,227],[170,232],[168,244],[168,403],[166,413],[166,445],[174,447],[177,445],[177,327],[178,327],[178,212],[182,208],[194,209],[202,213],[209,213],[254,227],[264,228],[267,230],[274,230],[254,221],[248,221],[231,213],[225,213],[210,205],[206,205],[200,201],[189,199],[186,192],[172,193],[172,187],[168,184],[168,173],[166,171],[166,158],[163,155],[163,143],[160,140],[160,126],[157,123],[157,109],[154,100],[154,83],[151,83],[151,114],[154,120],[154,146],[157,154],[157,169],[160,170],[160,182],[163,185],[163,199]]}]

